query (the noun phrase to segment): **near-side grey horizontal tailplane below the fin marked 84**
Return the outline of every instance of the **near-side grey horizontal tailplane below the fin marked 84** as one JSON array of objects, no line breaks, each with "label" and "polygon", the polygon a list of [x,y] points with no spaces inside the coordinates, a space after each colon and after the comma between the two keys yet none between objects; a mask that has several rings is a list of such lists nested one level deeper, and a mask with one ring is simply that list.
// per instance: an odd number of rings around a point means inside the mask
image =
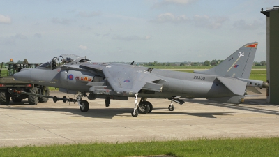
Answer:
[{"label": "near-side grey horizontal tailplane below the fin marked 84", "polygon": [[217,79],[222,82],[225,87],[227,87],[232,93],[243,96],[246,89],[246,82],[237,80],[231,77],[217,77]]}]

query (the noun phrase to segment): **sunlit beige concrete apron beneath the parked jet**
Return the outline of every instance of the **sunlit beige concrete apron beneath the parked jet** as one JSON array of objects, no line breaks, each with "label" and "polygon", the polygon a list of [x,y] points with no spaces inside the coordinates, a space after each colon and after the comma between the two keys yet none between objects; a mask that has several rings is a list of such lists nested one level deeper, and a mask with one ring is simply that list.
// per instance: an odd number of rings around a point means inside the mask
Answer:
[{"label": "sunlit beige concrete apron beneath the parked jet", "polygon": [[[240,105],[216,103],[203,98],[183,99],[169,111],[167,99],[148,99],[149,114],[132,117],[134,99],[88,100],[88,112],[77,103],[28,105],[10,102],[0,105],[0,147],[89,142],[140,142],[150,140],[191,140],[196,138],[279,136],[279,105],[266,103],[262,95],[246,98]],[[51,96],[67,96],[51,91]],[[74,98],[70,95],[70,98]],[[86,100],[86,98],[84,98]]]}]

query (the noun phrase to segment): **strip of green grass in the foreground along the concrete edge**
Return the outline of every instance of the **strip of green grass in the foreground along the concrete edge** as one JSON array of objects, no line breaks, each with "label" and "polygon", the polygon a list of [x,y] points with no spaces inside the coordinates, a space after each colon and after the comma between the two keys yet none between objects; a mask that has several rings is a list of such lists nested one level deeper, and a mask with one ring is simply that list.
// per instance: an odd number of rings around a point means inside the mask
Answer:
[{"label": "strip of green grass in the foreground along the concrete edge", "polygon": [[279,156],[279,137],[0,148],[0,156]]}]

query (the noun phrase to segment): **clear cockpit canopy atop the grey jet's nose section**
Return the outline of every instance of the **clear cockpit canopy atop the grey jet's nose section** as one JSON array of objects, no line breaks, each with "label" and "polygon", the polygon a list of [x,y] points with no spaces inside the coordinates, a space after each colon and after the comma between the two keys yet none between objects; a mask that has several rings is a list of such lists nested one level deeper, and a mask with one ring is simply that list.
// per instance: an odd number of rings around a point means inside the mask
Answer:
[{"label": "clear cockpit canopy atop the grey jet's nose section", "polygon": [[72,63],[84,63],[86,61],[90,61],[86,59],[86,57],[80,57],[75,54],[61,54],[59,57],[53,57],[49,61],[38,66],[39,68],[56,68],[60,67],[64,64],[72,64]]}]

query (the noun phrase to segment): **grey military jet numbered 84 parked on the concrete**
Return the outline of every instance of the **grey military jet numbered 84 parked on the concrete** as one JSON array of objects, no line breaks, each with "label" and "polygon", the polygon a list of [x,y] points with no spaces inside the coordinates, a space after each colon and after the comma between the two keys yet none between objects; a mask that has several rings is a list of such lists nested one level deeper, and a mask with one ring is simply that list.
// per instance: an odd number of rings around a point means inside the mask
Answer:
[{"label": "grey military jet numbered 84 parked on the concrete", "polygon": [[[247,87],[268,87],[259,80],[249,80],[257,42],[243,45],[218,66],[195,73],[158,70],[120,63],[96,63],[86,57],[62,54],[35,69],[22,69],[14,75],[16,80],[58,87],[59,91],[78,94],[77,99],[53,97],[57,100],[78,102],[80,110],[87,112],[89,103],[82,100],[105,99],[128,100],[135,98],[133,117],[138,113],[149,113],[153,105],[147,98],[167,98],[173,103],[183,104],[179,98],[207,98],[220,103],[242,103]],[[88,94],[88,95],[87,95]],[[140,97],[140,103],[137,98]]]}]

